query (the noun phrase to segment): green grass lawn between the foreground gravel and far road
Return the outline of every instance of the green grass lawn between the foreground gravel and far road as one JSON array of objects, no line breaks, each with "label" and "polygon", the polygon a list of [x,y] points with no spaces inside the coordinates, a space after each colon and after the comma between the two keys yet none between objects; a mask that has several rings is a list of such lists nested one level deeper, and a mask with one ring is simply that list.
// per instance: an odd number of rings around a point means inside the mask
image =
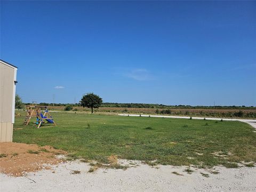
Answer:
[{"label": "green grass lawn between the foreground gravel and far road", "polygon": [[52,113],[58,126],[36,129],[35,117],[24,126],[21,114],[15,117],[14,142],[50,145],[98,162],[110,155],[199,167],[256,162],[256,133],[242,122]]}]

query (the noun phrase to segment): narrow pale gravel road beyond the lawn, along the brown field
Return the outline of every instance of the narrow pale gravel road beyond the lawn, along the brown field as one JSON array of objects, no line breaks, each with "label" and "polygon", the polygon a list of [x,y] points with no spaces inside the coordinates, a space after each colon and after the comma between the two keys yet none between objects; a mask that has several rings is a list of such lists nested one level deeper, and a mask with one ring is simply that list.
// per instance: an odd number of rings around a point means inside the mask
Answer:
[{"label": "narrow pale gravel road beyond the lawn, along the brown field", "polygon": [[[131,116],[131,117],[149,117],[149,115],[137,115],[137,114],[118,114],[121,116]],[[163,117],[163,118],[186,118],[189,119],[190,117],[186,116],[169,116],[169,115],[150,115],[150,117]],[[204,117],[192,117],[193,119],[204,119]],[[220,121],[223,119],[223,121],[241,121],[244,123],[248,123],[251,126],[253,126],[256,129],[256,119],[230,119],[230,118],[214,118],[214,117],[205,117],[207,120],[215,120]]]}]

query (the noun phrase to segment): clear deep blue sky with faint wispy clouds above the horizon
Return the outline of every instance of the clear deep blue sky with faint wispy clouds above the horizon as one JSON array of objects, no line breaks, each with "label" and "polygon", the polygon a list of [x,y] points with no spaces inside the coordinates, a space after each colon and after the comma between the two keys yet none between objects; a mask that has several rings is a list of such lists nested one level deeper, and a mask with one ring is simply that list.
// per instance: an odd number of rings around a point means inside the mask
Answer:
[{"label": "clear deep blue sky with faint wispy clouds above the horizon", "polygon": [[1,1],[24,102],[256,106],[255,42],[255,1]]}]

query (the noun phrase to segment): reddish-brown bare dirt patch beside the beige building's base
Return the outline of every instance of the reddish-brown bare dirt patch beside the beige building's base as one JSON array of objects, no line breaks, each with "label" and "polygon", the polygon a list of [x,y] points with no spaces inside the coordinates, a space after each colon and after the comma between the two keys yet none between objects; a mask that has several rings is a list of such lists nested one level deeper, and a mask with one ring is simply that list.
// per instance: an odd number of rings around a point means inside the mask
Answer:
[{"label": "reddish-brown bare dirt patch beside the beige building's base", "polygon": [[63,160],[55,154],[67,154],[65,151],[54,149],[51,146],[39,147],[25,143],[0,143],[0,172],[18,177],[28,172],[48,169],[48,165],[61,163]]}]

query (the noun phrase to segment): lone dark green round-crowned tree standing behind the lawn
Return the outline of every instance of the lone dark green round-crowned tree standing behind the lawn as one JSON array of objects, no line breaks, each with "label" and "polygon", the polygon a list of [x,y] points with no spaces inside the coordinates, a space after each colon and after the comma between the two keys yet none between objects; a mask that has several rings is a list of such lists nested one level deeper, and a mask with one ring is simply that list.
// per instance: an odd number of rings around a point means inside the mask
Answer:
[{"label": "lone dark green round-crowned tree standing behind the lawn", "polygon": [[81,106],[91,108],[93,113],[93,108],[99,108],[102,103],[102,99],[99,97],[99,95],[87,93],[83,95],[80,102]]}]

